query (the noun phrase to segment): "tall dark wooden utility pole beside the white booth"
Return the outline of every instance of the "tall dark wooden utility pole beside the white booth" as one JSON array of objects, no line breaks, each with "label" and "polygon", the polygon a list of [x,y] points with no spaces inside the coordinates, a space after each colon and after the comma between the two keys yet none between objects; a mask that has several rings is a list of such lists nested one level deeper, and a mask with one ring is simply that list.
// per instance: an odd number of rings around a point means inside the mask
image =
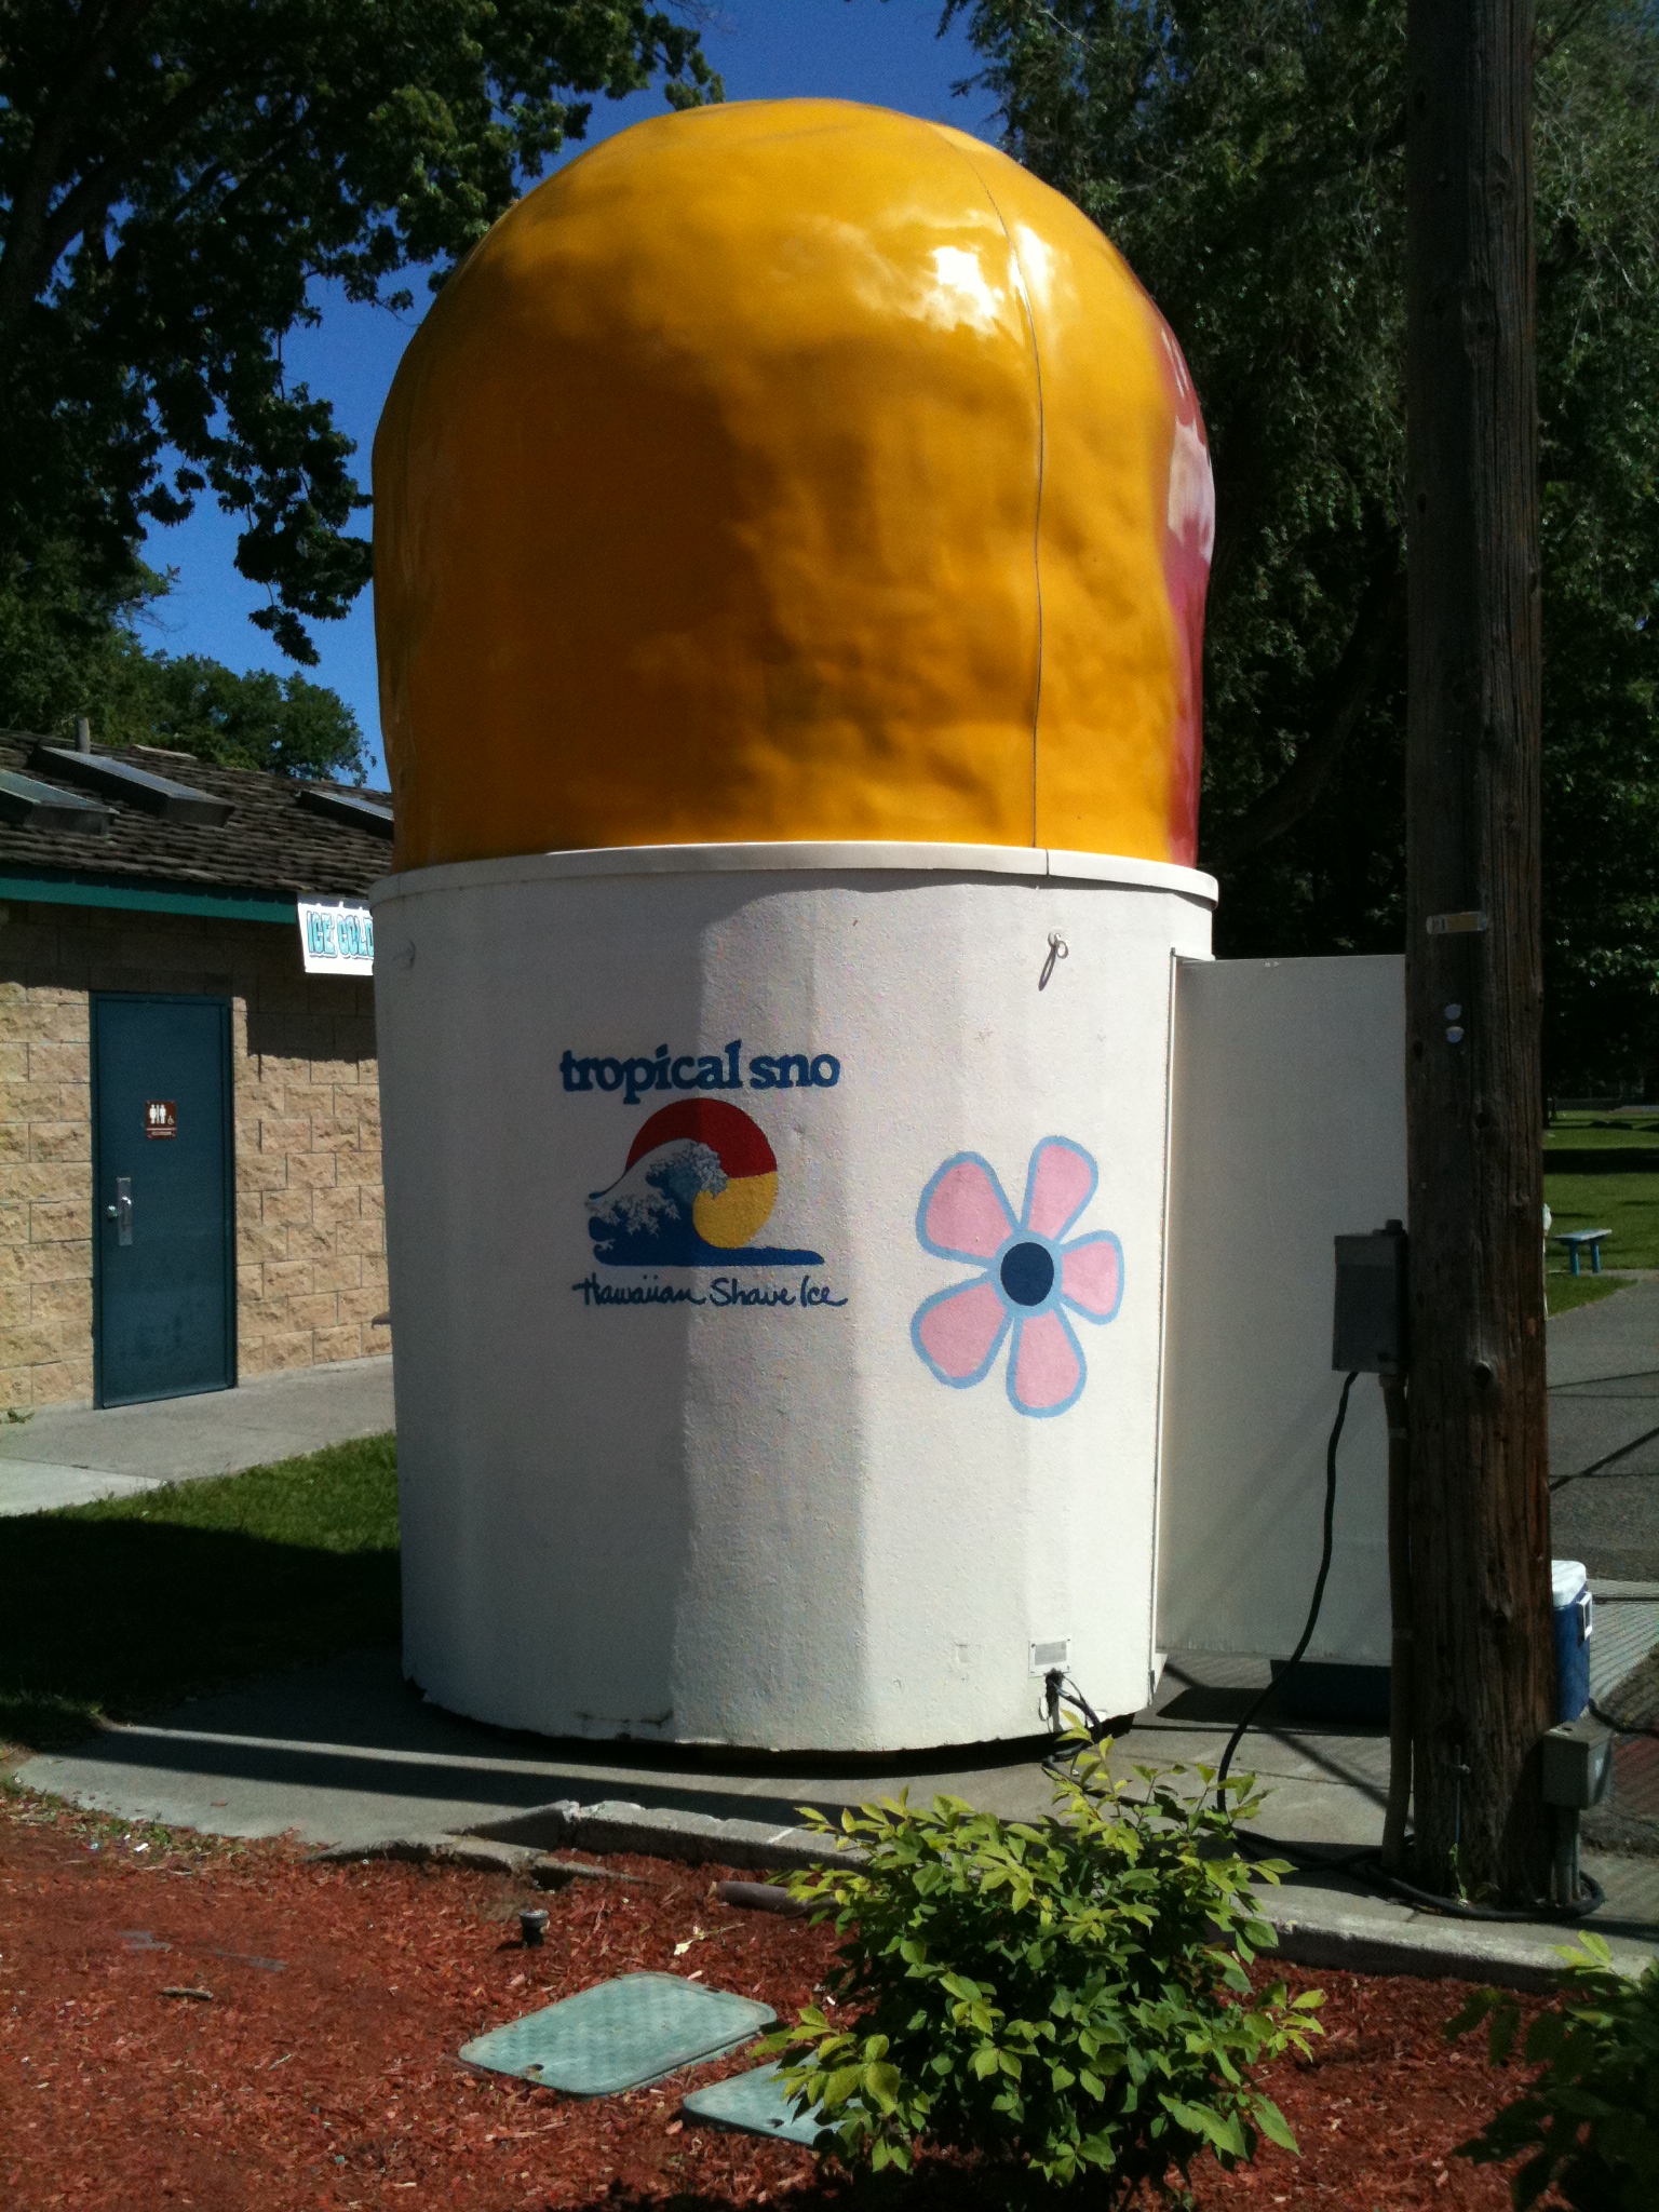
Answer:
[{"label": "tall dark wooden utility pole beside the white booth", "polygon": [[1418,1882],[1548,1891],[1533,7],[1407,4]]}]

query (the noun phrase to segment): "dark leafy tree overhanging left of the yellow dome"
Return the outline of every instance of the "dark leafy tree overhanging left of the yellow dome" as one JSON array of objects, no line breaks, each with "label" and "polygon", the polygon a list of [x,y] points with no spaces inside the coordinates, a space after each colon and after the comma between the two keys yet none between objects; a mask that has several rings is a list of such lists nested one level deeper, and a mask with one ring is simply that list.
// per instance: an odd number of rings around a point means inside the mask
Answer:
[{"label": "dark leafy tree overhanging left of the yellow dome", "polygon": [[573,95],[659,73],[719,97],[646,0],[0,0],[0,593],[122,602],[212,493],[314,661],[369,560],[352,440],[283,374],[314,283],[407,305],[582,137]]}]

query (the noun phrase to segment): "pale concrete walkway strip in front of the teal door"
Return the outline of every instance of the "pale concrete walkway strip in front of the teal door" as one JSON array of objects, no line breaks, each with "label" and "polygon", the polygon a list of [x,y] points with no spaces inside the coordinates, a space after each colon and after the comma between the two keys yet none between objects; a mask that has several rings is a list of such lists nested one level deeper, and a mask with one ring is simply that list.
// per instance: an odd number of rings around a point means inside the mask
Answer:
[{"label": "pale concrete walkway strip in front of the teal door", "polygon": [[0,1517],[234,1475],[389,1427],[389,1356],[257,1376],[199,1398],[44,1407],[0,1429]]}]

